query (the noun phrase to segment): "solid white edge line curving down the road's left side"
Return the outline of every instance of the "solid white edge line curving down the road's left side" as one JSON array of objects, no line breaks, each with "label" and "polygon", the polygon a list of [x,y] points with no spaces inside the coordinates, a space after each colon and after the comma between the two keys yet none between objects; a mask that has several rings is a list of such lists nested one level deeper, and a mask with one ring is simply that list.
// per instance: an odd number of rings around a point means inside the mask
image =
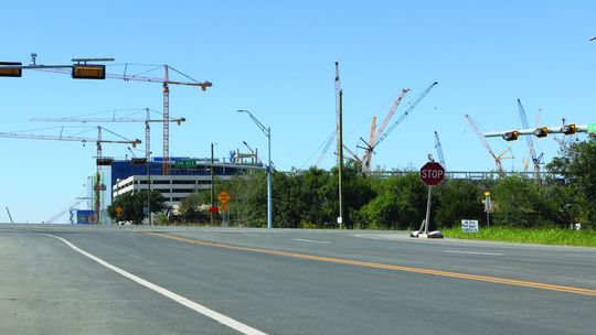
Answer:
[{"label": "solid white edge line curving down the road's left side", "polygon": [[78,247],[76,247],[75,245],[71,244],[70,241],[67,241],[66,239],[64,239],[62,237],[57,237],[57,236],[50,235],[50,234],[42,234],[42,235],[50,236],[50,237],[53,237],[53,238],[57,238],[61,241],[63,241],[64,244],[66,244],[66,246],[71,247],[73,250],[75,250],[76,252],[82,253],[87,258],[91,258],[92,260],[98,262],[99,264],[110,269],[111,271],[114,271],[114,272],[116,272],[118,274],[121,274],[121,275],[124,275],[124,277],[126,277],[126,278],[128,278],[128,279],[143,285],[143,287],[146,287],[147,289],[153,290],[157,293],[159,293],[159,294],[161,294],[161,295],[163,295],[166,298],[169,298],[169,299],[175,301],[177,303],[179,303],[179,304],[181,304],[183,306],[187,306],[187,307],[189,307],[189,309],[191,309],[191,310],[193,310],[193,311],[195,311],[195,312],[198,312],[200,314],[203,314],[203,315],[205,315],[205,316],[207,316],[210,318],[213,318],[216,322],[219,322],[219,323],[221,323],[221,324],[223,324],[225,326],[228,326],[228,327],[231,327],[231,328],[233,328],[233,329],[235,329],[235,331],[237,331],[237,332],[240,332],[242,334],[246,334],[246,335],[267,335],[266,333],[263,333],[263,332],[260,332],[258,329],[255,329],[255,328],[253,328],[251,326],[247,326],[247,325],[245,325],[245,324],[243,324],[243,323],[241,323],[238,321],[235,321],[232,317],[225,316],[225,315],[223,315],[221,313],[217,313],[217,312],[215,312],[213,310],[210,310],[210,309],[207,309],[207,307],[205,307],[205,306],[203,306],[203,305],[201,305],[201,304],[199,304],[199,303],[196,303],[196,302],[194,302],[192,300],[189,300],[189,299],[187,299],[187,298],[184,298],[182,295],[175,294],[172,291],[169,291],[169,290],[167,290],[167,289],[164,289],[162,287],[156,285],[156,284],[153,284],[153,283],[140,278],[140,277],[137,277],[137,275],[135,275],[135,274],[132,274],[130,272],[127,272],[127,271],[125,271],[125,270],[123,270],[123,269],[120,269],[120,268],[118,268],[116,266],[113,266],[113,264],[108,263],[107,261],[105,261],[105,260],[103,260],[103,259],[100,259],[98,257],[95,257],[95,256],[93,256],[92,253],[89,253],[89,252],[87,252],[85,250],[79,249]]}]

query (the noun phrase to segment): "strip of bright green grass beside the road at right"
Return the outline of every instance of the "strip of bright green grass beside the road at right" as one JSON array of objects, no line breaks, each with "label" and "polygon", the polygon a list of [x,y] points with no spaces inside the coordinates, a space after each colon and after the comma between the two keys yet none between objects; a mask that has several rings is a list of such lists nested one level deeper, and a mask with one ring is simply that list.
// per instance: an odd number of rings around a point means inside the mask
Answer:
[{"label": "strip of bright green grass beside the road at right", "polygon": [[477,234],[462,233],[460,228],[441,229],[445,237],[459,239],[494,240],[519,244],[596,247],[596,230],[563,230],[558,228],[480,228]]}]

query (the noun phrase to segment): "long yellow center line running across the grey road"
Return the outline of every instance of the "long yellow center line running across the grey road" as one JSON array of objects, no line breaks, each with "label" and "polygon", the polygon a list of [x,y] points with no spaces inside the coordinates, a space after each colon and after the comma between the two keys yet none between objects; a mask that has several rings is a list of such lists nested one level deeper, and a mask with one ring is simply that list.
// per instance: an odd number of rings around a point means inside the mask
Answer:
[{"label": "long yellow center line running across the grey road", "polygon": [[321,256],[298,253],[298,252],[288,252],[288,251],[281,251],[281,250],[238,247],[238,246],[232,246],[232,245],[225,245],[225,244],[219,244],[219,242],[212,242],[212,241],[203,241],[203,240],[190,239],[190,238],[184,238],[184,237],[173,236],[173,235],[168,235],[168,234],[162,234],[162,233],[146,231],[145,234],[151,235],[151,236],[155,236],[155,237],[168,238],[168,239],[172,239],[172,240],[177,240],[177,241],[181,241],[181,242],[187,242],[187,244],[191,244],[191,245],[210,246],[210,247],[216,247],[216,248],[224,248],[224,249],[228,249],[228,250],[259,252],[259,253],[267,253],[267,255],[276,255],[276,256],[299,258],[299,259],[317,260],[317,261],[323,261],[323,262],[359,266],[359,267],[373,268],[373,269],[384,269],[384,270],[404,271],[404,272],[412,272],[412,273],[423,273],[423,274],[432,274],[432,275],[439,275],[439,277],[448,277],[448,278],[458,278],[458,279],[467,279],[467,280],[476,280],[476,281],[491,282],[491,283],[499,283],[499,284],[513,285],[513,287],[523,287],[523,288],[532,288],[532,289],[541,289],[541,290],[549,290],[549,291],[558,291],[558,292],[566,292],[566,293],[575,293],[575,294],[582,294],[582,295],[596,296],[596,290],[592,290],[592,289],[582,289],[582,288],[574,288],[574,287],[546,284],[546,283],[515,280],[515,279],[509,279],[509,278],[499,278],[499,277],[479,275],[479,274],[468,274],[468,273],[443,271],[443,270],[433,270],[433,269],[425,269],[425,268],[403,267],[403,266],[386,264],[386,263],[375,263],[375,262],[369,262],[369,261],[342,259],[342,258],[334,258],[334,257],[321,257]]}]

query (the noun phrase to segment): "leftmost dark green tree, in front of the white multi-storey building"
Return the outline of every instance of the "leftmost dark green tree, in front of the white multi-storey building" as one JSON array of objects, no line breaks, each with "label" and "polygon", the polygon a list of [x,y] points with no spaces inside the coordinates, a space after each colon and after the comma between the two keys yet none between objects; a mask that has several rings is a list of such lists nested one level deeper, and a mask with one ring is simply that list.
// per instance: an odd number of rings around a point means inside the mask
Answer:
[{"label": "leftmost dark green tree, in front of the white multi-storey building", "polygon": [[[109,217],[111,220],[132,221],[136,225],[140,225],[146,217],[143,207],[147,207],[147,191],[140,191],[125,193],[116,197],[107,208]],[[162,212],[166,208],[164,202],[166,199],[159,191],[151,191],[151,213]],[[117,207],[121,208],[120,214],[117,213]]]}]

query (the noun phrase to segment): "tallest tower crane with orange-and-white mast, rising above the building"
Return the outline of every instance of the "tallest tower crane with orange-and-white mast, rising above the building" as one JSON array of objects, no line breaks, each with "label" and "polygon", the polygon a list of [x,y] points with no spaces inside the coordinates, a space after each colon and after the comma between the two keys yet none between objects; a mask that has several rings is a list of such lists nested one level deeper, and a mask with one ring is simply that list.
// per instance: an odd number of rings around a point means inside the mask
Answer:
[{"label": "tallest tower crane with orange-and-white mast, rising above the building", "polygon": [[[36,55],[35,55],[36,56]],[[75,61],[85,61],[85,60],[73,60]],[[205,91],[207,87],[213,86],[210,82],[199,83],[198,80],[189,77],[188,75],[179,72],[178,69],[169,65],[159,65],[156,68],[163,68],[163,77],[148,77],[141,75],[128,75],[126,69],[128,64],[125,64],[124,74],[109,74],[106,73],[105,77],[110,79],[121,79],[125,82],[148,82],[148,83],[159,83],[163,87],[163,166],[162,174],[168,175],[170,173],[170,85],[182,85],[182,86],[196,86],[201,90]],[[153,69],[156,69],[153,68]],[[51,72],[51,73],[62,73],[72,75],[72,68],[60,68],[60,67],[40,67],[34,68],[35,71]],[[178,82],[170,80],[170,72],[178,73],[179,75],[184,76],[192,82]],[[145,72],[147,73],[147,72]]]}]

